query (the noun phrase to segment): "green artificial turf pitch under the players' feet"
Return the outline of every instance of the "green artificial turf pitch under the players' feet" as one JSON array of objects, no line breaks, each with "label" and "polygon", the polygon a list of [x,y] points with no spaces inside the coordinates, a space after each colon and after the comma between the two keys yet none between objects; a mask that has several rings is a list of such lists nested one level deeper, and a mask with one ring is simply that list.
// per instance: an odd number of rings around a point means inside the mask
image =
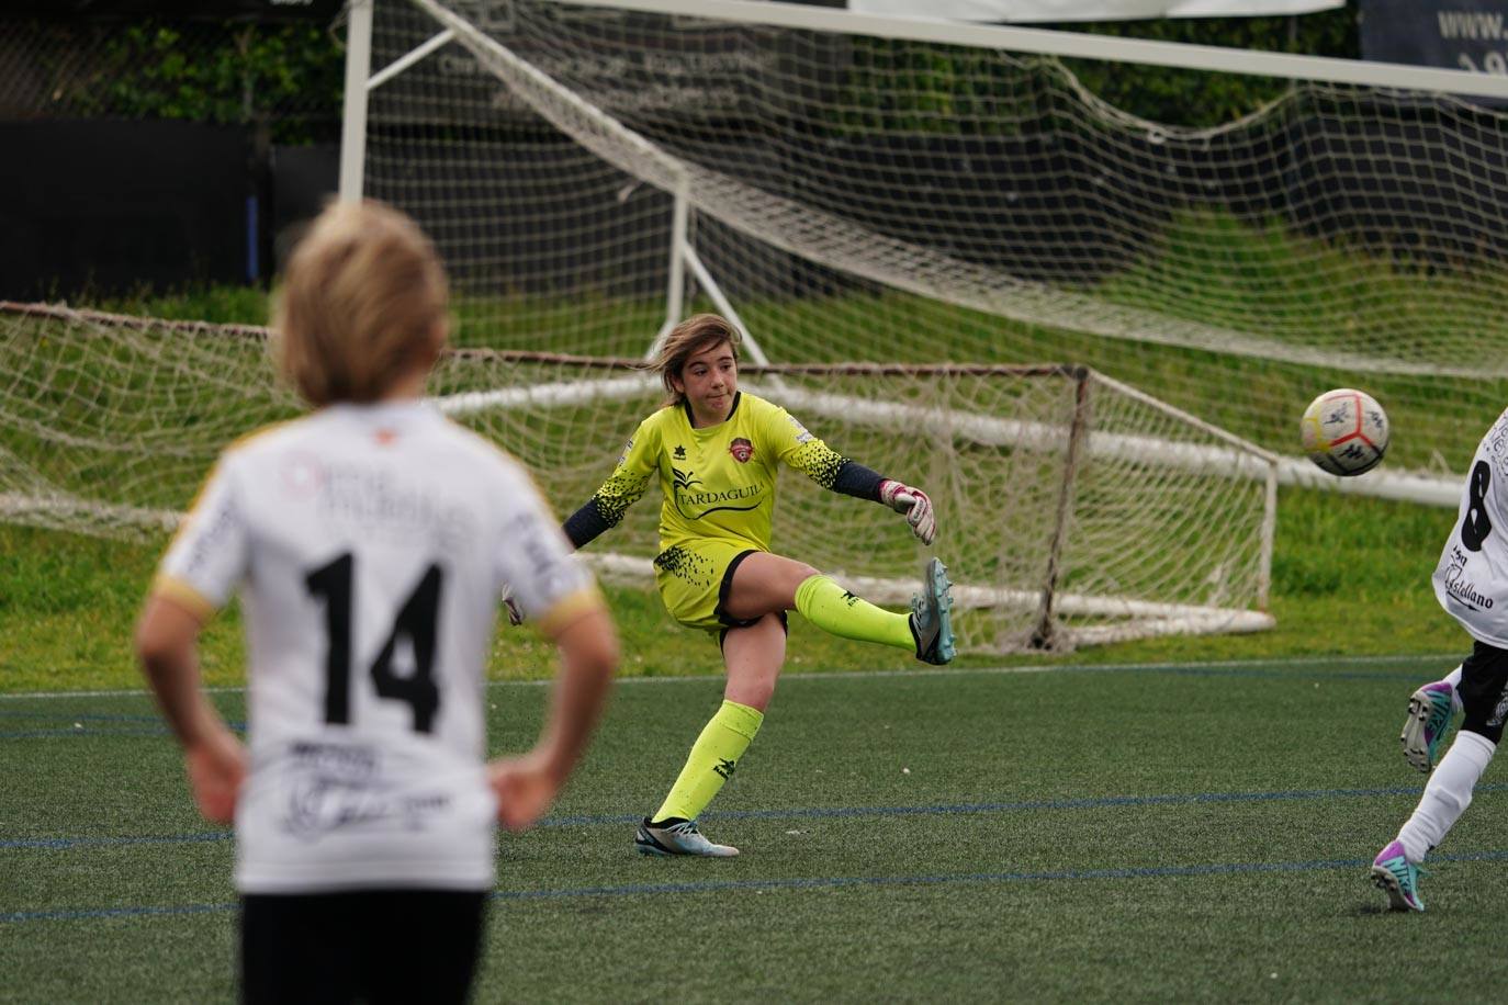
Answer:
[{"label": "green artificial turf pitch under the players' feet", "polygon": [[[703,817],[733,860],[633,853],[719,689],[624,681],[544,826],[499,839],[477,999],[1389,1000],[1430,975],[1490,1000],[1491,771],[1425,915],[1386,913],[1366,878],[1422,782],[1405,699],[1443,669],[796,675]],[[496,749],[532,741],[546,695],[489,689]],[[0,1000],[231,1000],[232,844],[149,701],[9,696],[0,750]]]}]

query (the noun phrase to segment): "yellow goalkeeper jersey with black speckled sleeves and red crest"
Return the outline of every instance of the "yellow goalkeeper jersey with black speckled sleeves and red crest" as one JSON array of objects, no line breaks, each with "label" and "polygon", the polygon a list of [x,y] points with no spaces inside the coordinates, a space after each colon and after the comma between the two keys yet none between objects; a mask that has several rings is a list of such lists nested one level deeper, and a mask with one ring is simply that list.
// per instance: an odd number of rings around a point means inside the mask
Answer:
[{"label": "yellow goalkeeper jersey with black speckled sleeves and red crest", "polygon": [[715,426],[692,428],[685,404],[641,422],[593,499],[597,512],[617,524],[657,475],[661,550],[719,538],[769,551],[781,461],[832,488],[844,458],[780,405],[740,390],[733,411]]}]

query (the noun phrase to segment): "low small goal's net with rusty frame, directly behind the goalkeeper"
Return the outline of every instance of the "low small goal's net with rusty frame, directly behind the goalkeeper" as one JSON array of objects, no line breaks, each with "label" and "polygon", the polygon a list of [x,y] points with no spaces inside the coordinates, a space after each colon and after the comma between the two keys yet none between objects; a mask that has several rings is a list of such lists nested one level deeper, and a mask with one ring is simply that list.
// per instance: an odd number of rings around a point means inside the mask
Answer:
[{"label": "low small goal's net with rusty frame, directly behind the goalkeeper", "polygon": [[[265,331],[0,304],[0,520],[161,539],[216,454],[297,414]],[[926,485],[962,648],[1004,652],[1271,625],[1271,455],[1077,366],[774,365],[742,384],[834,449]],[[566,514],[662,399],[629,362],[457,350],[434,401]],[[905,606],[921,551],[891,511],[784,472],[775,541]],[[644,582],[657,493],[585,556]]]}]

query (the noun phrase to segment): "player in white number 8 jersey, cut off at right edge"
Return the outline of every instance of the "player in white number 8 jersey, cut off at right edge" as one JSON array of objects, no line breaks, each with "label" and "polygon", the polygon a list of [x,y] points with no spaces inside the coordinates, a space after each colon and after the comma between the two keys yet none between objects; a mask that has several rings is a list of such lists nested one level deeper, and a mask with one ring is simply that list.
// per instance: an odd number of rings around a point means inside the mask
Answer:
[{"label": "player in white number 8 jersey, cut off at right edge", "polygon": [[[1508,717],[1508,411],[1476,448],[1461,506],[1434,570],[1434,595],[1467,634],[1472,654],[1443,680],[1416,690],[1404,722],[1404,756],[1434,770],[1413,815],[1372,862],[1372,878],[1395,910],[1424,910],[1419,863],[1472,803]],[[1457,713],[1461,729],[1434,756]]]}]

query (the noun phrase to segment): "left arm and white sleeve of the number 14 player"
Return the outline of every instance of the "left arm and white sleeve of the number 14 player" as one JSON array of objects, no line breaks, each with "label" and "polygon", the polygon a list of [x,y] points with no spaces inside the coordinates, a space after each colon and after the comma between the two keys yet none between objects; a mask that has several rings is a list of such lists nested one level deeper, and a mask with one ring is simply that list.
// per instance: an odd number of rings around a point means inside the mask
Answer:
[{"label": "left arm and white sleeve of the number 14 player", "polygon": [[136,655],[184,747],[199,812],[229,823],[246,753],[201,687],[199,631],[246,570],[246,527],[228,466],[214,470],[173,538],[136,628]]}]

